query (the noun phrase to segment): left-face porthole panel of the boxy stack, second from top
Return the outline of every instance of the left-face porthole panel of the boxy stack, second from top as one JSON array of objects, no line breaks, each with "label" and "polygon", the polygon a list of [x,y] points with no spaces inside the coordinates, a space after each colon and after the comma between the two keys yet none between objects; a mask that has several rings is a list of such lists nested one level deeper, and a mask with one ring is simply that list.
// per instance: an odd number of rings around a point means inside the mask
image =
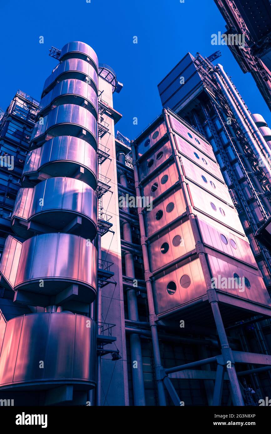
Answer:
[{"label": "left-face porthole panel of the boxy stack, second from top", "polygon": [[142,161],[139,165],[139,179],[142,181],[147,175],[151,174],[165,161],[172,157],[172,149],[169,141],[159,146],[148,158]]}]

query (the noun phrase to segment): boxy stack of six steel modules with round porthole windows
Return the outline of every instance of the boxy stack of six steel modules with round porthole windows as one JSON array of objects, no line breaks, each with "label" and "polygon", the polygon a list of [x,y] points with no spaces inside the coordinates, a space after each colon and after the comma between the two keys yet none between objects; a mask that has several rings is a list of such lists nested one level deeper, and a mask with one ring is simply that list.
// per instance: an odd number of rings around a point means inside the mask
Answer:
[{"label": "boxy stack of six steel modules with round porthole windows", "polygon": [[[251,252],[212,146],[173,112],[132,144],[144,212],[156,321],[225,327],[271,315],[271,299]],[[228,370],[234,404],[243,404],[235,369]]]}]

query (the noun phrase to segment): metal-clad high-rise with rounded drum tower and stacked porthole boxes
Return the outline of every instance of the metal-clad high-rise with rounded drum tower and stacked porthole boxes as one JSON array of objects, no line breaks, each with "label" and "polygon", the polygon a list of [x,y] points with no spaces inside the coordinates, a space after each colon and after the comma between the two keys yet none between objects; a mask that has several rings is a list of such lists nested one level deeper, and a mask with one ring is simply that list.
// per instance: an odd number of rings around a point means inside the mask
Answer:
[{"label": "metal-clad high-rise with rounded drum tower and stacked porthole boxes", "polygon": [[3,235],[0,398],[258,405],[271,385],[264,120],[254,128],[222,67],[188,54],[130,142],[112,68],[85,43],[50,55]]}]

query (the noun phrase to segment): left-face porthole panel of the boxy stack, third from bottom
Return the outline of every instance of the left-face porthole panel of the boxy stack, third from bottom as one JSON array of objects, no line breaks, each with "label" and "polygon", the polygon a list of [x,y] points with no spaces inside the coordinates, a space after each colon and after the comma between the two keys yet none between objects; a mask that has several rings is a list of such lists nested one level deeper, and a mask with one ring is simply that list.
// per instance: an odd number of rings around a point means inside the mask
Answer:
[{"label": "left-face porthole panel of the boxy stack, third from bottom", "polygon": [[186,212],[182,190],[175,191],[145,213],[146,236],[149,237]]}]

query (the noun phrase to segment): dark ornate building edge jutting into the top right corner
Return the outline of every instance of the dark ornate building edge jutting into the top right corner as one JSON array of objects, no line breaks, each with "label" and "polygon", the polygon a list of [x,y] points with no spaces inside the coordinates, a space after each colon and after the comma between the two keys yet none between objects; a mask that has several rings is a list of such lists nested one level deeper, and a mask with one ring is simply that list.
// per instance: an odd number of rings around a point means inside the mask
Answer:
[{"label": "dark ornate building edge jutting into the top right corner", "polygon": [[[235,60],[250,72],[271,109],[271,4],[269,0],[215,0],[227,25]],[[242,36],[237,43],[234,35]]]}]

